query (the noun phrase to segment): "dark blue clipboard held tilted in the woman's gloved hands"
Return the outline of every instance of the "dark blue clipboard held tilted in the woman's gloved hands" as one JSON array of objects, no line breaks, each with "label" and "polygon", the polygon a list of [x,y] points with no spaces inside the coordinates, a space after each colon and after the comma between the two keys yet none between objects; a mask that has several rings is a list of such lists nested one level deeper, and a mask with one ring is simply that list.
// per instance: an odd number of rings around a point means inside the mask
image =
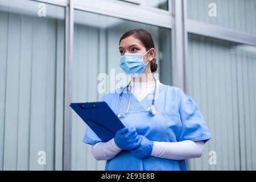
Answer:
[{"label": "dark blue clipboard held tilted in the woman's gloved hands", "polygon": [[102,140],[108,142],[125,127],[106,102],[71,103],[69,106]]}]

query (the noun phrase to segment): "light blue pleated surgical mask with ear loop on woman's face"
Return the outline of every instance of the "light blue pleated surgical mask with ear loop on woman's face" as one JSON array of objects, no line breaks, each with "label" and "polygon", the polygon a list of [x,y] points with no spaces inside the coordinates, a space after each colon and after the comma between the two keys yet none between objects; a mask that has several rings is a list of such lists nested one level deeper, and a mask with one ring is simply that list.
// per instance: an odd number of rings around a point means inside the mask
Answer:
[{"label": "light blue pleated surgical mask with ear loop on woman's face", "polygon": [[[149,49],[148,51],[150,51]],[[139,76],[144,69],[146,68],[147,64],[144,64],[143,56],[148,53],[148,51],[144,54],[142,53],[125,53],[120,57],[120,64],[119,67],[123,69],[127,75],[132,77]]]}]

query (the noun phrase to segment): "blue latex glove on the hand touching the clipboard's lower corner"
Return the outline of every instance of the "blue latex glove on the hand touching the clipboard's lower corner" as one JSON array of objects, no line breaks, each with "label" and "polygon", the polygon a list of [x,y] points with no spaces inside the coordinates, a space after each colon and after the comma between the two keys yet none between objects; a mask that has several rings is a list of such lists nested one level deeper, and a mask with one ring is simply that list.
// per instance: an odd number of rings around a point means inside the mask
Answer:
[{"label": "blue latex glove on the hand touching the clipboard's lower corner", "polygon": [[131,129],[124,127],[123,129],[118,130],[115,134],[114,141],[122,150],[134,150],[141,144],[141,140],[139,140],[134,127],[131,127]]}]

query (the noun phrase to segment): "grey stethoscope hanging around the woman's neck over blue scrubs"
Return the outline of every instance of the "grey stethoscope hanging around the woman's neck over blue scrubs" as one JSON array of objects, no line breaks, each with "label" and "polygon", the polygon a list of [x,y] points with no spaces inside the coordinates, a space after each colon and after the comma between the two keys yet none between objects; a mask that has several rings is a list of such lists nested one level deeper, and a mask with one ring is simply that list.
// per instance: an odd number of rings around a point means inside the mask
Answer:
[{"label": "grey stethoscope hanging around the woman's neck over blue scrubs", "polygon": [[[153,77],[154,78],[154,77]],[[148,107],[148,112],[150,112],[152,115],[156,115],[156,109],[155,109],[155,92],[156,92],[156,80],[154,78],[154,81],[155,81],[155,89],[154,89],[154,96],[153,96],[153,100],[152,100],[152,105],[150,107]],[[130,108],[130,104],[131,104],[131,92],[129,93],[129,104],[128,104],[128,107],[127,107],[127,110],[125,111],[124,114],[118,114],[118,110],[119,110],[119,105],[120,105],[120,102],[122,100],[122,96],[123,96],[123,91],[125,91],[125,89],[127,89],[129,86],[130,86],[130,83],[131,81],[129,82],[129,84],[127,84],[127,86],[125,86],[125,88],[123,88],[122,92],[120,93],[119,95],[119,101],[118,101],[118,104],[117,104],[117,117],[118,118],[123,118],[126,116],[126,114],[128,113],[129,111],[129,108]]]}]

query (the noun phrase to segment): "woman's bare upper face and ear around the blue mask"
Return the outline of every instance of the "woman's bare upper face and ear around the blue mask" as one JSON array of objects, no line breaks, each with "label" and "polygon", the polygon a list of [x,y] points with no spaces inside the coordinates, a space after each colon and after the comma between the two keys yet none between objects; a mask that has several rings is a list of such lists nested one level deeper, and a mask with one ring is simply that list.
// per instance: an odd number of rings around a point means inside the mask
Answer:
[{"label": "woman's bare upper face and ear around the blue mask", "polygon": [[[125,39],[122,39],[119,45],[120,55],[125,53],[146,53],[147,50],[143,46],[141,40],[135,38],[134,36],[128,36]],[[151,61],[154,58],[155,49],[152,48],[146,55],[143,57],[144,64],[147,64],[147,61]],[[150,65],[150,64],[148,64]]]}]

